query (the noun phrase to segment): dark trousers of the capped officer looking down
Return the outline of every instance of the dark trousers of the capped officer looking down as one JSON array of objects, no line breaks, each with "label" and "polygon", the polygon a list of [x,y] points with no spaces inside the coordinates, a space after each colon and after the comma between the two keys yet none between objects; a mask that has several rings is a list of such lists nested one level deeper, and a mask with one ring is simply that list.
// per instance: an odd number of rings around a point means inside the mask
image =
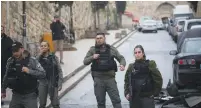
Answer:
[{"label": "dark trousers of the capped officer looking down", "polygon": [[26,95],[13,93],[9,108],[38,108],[37,96],[35,92]]}]

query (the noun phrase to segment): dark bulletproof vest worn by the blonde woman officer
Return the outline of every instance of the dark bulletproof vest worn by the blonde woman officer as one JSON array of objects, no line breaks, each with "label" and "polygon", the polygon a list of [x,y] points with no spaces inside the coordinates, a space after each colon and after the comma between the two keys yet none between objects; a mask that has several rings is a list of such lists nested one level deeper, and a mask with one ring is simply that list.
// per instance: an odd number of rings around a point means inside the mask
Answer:
[{"label": "dark bulletproof vest worn by the blonde woman officer", "polygon": [[54,86],[58,86],[57,82],[59,80],[58,64],[55,62],[56,58],[54,55],[49,55],[47,57],[41,56],[39,62],[46,71],[46,78],[53,82]]}]

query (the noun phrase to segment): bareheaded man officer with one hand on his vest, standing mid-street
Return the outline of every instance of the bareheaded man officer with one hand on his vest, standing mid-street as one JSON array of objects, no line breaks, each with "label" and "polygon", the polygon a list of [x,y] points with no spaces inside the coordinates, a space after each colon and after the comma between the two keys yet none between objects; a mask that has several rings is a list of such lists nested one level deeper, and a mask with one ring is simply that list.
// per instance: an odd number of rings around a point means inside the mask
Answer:
[{"label": "bareheaded man officer with one hand on his vest, standing mid-street", "polygon": [[122,107],[115,81],[117,64],[114,58],[120,62],[120,70],[123,71],[126,65],[124,57],[119,54],[116,48],[106,44],[104,33],[97,33],[96,44],[87,52],[84,64],[89,65],[92,63],[91,71],[98,108],[105,108],[106,92],[110,96],[114,108]]}]

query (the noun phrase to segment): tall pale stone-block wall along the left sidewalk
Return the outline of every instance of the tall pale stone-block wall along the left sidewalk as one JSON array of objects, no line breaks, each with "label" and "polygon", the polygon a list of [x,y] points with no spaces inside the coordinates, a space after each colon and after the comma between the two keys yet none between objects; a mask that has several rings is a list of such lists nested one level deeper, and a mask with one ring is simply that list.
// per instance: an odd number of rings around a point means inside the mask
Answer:
[{"label": "tall pale stone-block wall along the left sidewalk", "polygon": [[[8,25],[7,34],[13,38],[22,37],[22,2],[9,1],[9,10],[6,9],[6,1],[1,1],[1,23]],[[27,37],[30,41],[38,41],[44,32],[51,32],[50,23],[55,14],[55,4],[48,1],[26,1]],[[7,12],[9,11],[9,14]],[[74,1],[72,5],[73,27],[76,39],[84,37],[85,31],[94,28],[94,16],[89,1]],[[100,24],[106,26],[106,14],[100,12]],[[7,19],[6,16],[9,16]],[[61,21],[69,27],[70,8],[61,9]]]}]

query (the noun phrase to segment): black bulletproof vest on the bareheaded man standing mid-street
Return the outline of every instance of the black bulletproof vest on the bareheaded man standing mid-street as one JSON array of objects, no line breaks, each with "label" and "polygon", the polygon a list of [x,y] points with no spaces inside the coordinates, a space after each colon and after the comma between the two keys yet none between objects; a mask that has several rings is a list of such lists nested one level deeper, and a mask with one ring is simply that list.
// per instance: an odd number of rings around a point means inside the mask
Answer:
[{"label": "black bulletproof vest on the bareheaded man standing mid-street", "polygon": [[100,54],[98,59],[92,61],[91,71],[107,72],[110,70],[117,71],[117,64],[114,57],[110,54],[110,46],[95,46],[96,54]]}]

